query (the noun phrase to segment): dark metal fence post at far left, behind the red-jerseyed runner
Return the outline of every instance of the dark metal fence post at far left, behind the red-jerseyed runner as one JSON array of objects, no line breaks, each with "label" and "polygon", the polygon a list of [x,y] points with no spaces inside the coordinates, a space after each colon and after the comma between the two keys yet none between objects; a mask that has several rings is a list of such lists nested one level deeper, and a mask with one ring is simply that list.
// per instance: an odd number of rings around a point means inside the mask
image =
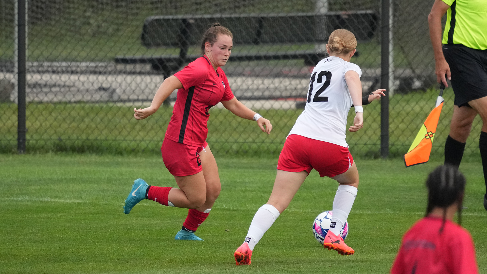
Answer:
[{"label": "dark metal fence post at far left, behind the red-jerseyed runner", "polygon": [[25,42],[25,1],[18,0],[18,115],[17,115],[17,151],[19,154],[25,153],[25,133],[26,133],[26,109],[25,109],[25,93],[26,93],[26,42]]}]

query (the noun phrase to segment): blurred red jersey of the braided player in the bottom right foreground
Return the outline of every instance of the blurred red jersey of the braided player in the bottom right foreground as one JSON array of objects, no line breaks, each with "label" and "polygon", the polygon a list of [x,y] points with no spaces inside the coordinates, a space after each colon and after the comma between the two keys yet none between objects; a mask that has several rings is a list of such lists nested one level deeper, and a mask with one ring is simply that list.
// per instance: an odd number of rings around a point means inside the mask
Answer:
[{"label": "blurred red jersey of the braided player in the bottom right foreground", "polygon": [[402,238],[392,274],[478,274],[472,237],[461,226],[425,217]]}]

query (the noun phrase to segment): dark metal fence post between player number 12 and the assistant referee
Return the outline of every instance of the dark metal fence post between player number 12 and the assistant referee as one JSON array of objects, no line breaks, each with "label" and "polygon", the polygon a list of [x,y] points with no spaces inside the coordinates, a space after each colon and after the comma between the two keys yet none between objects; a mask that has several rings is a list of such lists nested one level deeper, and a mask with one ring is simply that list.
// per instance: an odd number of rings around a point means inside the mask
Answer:
[{"label": "dark metal fence post between player number 12 and the assistant referee", "polygon": [[380,31],[380,87],[386,97],[380,100],[380,156],[389,156],[389,0],[382,0]]}]

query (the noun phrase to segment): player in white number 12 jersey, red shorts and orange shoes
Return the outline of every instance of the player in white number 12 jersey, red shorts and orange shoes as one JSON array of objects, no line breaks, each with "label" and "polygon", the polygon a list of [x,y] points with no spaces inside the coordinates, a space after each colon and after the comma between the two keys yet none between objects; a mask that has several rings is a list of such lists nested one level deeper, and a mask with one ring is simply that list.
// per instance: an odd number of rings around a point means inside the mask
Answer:
[{"label": "player in white number 12 jersey, red shorts and orange shoes", "polygon": [[355,48],[356,39],[350,31],[338,29],[330,35],[326,45],[330,57],[319,61],[312,72],[306,106],[279,156],[272,194],[254,215],[244,243],[234,253],[237,265],[250,264],[255,245],[287,208],[312,169],[339,183],[323,246],[342,255],[355,253],[340,237],[358,187],[358,171],[345,141],[347,116],[354,105],[356,116],[349,131],[358,131],[363,126],[362,104],[385,96],[385,90],[380,89],[361,100],[362,72],[349,62]]}]

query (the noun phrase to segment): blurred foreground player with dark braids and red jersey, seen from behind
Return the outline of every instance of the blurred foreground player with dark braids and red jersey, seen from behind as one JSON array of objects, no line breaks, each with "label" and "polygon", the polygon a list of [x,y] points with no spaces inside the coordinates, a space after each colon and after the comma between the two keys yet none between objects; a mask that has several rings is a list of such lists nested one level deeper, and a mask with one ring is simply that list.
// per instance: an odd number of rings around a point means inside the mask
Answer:
[{"label": "blurred foreground player with dark braids and red jersey, seen from behind", "polygon": [[402,238],[391,273],[478,274],[472,236],[460,226],[465,177],[456,166],[442,165],[430,173],[426,187],[426,216]]}]

